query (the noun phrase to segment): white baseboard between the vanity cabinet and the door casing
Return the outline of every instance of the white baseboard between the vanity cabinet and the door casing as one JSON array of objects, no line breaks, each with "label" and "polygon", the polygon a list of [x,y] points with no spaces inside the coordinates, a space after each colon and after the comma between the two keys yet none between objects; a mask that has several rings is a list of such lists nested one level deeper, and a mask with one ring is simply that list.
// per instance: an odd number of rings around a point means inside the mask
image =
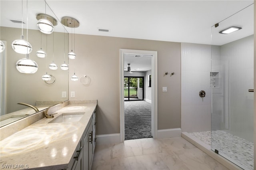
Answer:
[{"label": "white baseboard between the vanity cabinet and the door casing", "polygon": [[120,133],[99,134],[99,135],[96,135],[96,138],[97,138],[96,145],[120,143]]}]

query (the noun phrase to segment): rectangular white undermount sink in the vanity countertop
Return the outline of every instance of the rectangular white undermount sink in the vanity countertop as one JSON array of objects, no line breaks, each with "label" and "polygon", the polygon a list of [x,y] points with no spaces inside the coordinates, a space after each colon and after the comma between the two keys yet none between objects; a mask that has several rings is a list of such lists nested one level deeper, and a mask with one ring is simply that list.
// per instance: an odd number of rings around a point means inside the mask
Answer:
[{"label": "rectangular white undermount sink in the vanity countertop", "polygon": [[62,113],[49,123],[78,122],[84,116],[85,112],[80,113]]}]

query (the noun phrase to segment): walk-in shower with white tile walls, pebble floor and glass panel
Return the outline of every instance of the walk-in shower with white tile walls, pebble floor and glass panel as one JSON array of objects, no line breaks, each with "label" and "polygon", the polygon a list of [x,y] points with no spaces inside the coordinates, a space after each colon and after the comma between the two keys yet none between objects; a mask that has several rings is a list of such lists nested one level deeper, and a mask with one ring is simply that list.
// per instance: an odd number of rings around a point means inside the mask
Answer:
[{"label": "walk-in shower with white tile walls, pebble floor and glass panel", "polygon": [[[182,135],[245,170],[254,169],[253,6],[212,26],[212,45],[182,43]],[[230,26],[242,29],[219,33]]]}]

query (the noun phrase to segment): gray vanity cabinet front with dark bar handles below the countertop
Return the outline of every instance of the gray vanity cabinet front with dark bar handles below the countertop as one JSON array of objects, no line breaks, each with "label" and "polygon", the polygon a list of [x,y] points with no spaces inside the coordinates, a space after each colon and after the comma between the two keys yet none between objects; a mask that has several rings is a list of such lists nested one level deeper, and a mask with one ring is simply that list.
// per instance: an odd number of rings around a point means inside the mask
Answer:
[{"label": "gray vanity cabinet front with dark bar handles below the countertop", "polygon": [[71,170],[90,170],[92,168],[92,160],[96,144],[95,130],[96,110],[94,110],[94,113],[84,130],[83,136],[72,156],[72,160],[70,160],[70,165],[73,165]]}]

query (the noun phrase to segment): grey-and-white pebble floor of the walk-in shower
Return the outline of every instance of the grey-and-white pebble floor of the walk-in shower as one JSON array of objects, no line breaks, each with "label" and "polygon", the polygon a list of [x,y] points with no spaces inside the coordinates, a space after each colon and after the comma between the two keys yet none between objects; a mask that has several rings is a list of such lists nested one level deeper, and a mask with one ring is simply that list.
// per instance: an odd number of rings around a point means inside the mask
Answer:
[{"label": "grey-and-white pebble floor of the walk-in shower", "polygon": [[[211,145],[211,131],[192,132],[190,134],[205,144]],[[212,148],[216,148],[219,152],[231,158],[233,163],[236,164],[237,162],[244,168],[253,170],[254,146],[252,142],[223,130],[216,130],[212,131]]]}]

